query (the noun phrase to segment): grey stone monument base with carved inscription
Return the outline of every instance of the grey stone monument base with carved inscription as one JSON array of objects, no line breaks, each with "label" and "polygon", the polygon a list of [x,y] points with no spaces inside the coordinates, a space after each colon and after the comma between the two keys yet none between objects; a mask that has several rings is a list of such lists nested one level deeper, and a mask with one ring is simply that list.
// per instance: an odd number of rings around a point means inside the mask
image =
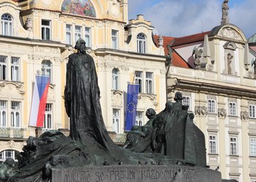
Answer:
[{"label": "grey stone monument base with carved inscription", "polygon": [[221,182],[221,173],[182,165],[109,165],[52,168],[52,182]]}]

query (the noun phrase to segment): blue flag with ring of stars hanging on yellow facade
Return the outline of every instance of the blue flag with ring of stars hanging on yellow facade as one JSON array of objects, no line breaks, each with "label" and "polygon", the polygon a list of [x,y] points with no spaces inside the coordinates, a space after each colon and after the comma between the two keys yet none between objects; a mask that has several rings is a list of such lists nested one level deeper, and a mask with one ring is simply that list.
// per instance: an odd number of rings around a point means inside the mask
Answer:
[{"label": "blue flag with ring of stars hanging on yellow facade", "polygon": [[138,103],[139,84],[128,84],[127,88],[127,116],[125,122],[125,130],[132,130],[132,126],[136,122],[136,109]]}]

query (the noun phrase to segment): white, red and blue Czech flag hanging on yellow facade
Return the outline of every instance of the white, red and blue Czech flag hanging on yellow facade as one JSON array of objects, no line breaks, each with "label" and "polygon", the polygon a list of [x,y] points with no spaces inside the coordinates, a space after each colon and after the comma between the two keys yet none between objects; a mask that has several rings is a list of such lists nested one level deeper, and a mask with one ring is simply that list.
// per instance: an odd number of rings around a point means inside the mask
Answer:
[{"label": "white, red and blue Czech flag hanging on yellow facade", "polygon": [[29,120],[31,127],[43,127],[49,84],[50,76],[36,76]]}]

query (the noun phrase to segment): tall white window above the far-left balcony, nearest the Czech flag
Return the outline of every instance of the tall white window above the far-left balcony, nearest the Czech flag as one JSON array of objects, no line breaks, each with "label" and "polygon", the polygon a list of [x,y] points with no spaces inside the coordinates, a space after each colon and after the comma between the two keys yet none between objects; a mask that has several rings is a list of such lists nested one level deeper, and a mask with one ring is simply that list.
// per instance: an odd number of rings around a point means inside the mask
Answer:
[{"label": "tall white window above the far-left balcony, nearest the Czech flag", "polygon": [[20,127],[20,102],[11,102],[11,127]]}]

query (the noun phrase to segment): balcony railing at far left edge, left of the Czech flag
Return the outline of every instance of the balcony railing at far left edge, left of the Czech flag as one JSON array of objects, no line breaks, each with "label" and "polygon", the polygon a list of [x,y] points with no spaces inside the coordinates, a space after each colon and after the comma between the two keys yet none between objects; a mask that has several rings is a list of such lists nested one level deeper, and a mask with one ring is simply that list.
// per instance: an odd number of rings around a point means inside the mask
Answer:
[{"label": "balcony railing at far left edge, left of the Czech flag", "polygon": [[0,127],[0,138],[23,138],[23,128]]}]

